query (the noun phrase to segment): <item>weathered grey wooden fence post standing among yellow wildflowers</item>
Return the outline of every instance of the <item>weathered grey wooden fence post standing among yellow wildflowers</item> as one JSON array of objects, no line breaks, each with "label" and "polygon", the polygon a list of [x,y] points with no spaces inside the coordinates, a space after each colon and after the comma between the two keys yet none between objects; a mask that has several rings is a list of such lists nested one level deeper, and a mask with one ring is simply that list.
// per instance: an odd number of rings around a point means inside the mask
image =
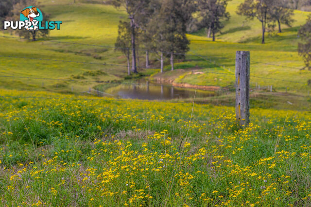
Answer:
[{"label": "weathered grey wooden fence post standing among yellow wildflowers", "polygon": [[237,51],[235,59],[236,117],[241,126],[249,124],[250,53]]}]

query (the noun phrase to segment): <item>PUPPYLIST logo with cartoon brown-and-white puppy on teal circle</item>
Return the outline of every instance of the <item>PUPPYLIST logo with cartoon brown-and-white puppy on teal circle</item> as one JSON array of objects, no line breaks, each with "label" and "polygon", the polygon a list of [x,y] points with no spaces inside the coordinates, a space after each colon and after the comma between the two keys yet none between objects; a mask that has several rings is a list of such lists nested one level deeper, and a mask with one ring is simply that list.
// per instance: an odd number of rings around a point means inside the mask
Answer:
[{"label": "PUPPYLIST logo with cartoon brown-and-white puppy on teal circle", "polygon": [[20,12],[19,21],[4,21],[4,30],[60,30],[63,21],[44,21],[40,9],[28,6]]}]

